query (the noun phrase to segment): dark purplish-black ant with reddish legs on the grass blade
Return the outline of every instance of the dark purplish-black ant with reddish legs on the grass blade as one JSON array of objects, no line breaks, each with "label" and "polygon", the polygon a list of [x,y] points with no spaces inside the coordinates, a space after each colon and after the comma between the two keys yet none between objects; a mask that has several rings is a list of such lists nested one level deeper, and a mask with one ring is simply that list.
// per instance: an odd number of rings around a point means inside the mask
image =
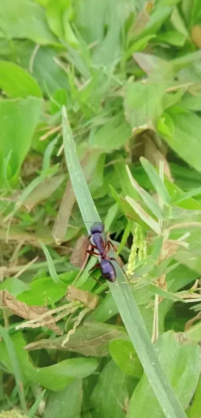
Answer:
[{"label": "dark purplish-black ant with reddish legs on the grass blade", "polygon": [[109,257],[107,254],[111,246],[114,249],[114,245],[107,239],[104,241],[101,235],[103,231],[104,224],[102,222],[95,222],[90,228],[91,234],[89,235],[89,238],[92,238],[93,244],[91,244],[91,249],[87,249],[87,252],[90,255],[100,256],[101,260],[89,271],[100,268],[102,276],[105,277],[106,280],[114,282],[116,280],[116,270],[110,260],[116,259]]}]

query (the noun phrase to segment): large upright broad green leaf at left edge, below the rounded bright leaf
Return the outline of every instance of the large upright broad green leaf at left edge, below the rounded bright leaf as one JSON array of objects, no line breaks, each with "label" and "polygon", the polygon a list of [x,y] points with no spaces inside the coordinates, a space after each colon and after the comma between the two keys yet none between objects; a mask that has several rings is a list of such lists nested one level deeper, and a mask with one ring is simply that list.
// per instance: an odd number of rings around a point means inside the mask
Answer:
[{"label": "large upright broad green leaf at left edge, below the rounded bright leaf", "polygon": [[[2,161],[9,156],[8,180],[16,178],[30,148],[32,135],[39,121],[41,104],[41,100],[35,97],[0,102],[0,158]],[[0,182],[3,181],[4,173],[1,165]]]}]

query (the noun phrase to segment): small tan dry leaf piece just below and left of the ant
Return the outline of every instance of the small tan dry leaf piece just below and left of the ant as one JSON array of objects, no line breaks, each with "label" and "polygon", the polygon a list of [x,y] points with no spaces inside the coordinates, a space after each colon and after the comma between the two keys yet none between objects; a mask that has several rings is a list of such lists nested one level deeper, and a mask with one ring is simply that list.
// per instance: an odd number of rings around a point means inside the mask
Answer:
[{"label": "small tan dry leaf piece just below and left of the ant", "polygon": [[98,305],[98,296],[88,292],[87,290],[81,290],[74,286],[68,286],[66,299],[69,302],[78,300],[92,310]]}]

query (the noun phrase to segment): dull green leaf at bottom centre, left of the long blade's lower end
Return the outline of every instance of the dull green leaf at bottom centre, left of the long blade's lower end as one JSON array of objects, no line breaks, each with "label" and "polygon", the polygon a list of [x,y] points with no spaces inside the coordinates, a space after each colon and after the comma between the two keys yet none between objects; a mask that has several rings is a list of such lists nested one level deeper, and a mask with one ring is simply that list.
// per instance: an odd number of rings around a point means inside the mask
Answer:
[{"label": "dull green leaf at bottom centre, left of the long blade's lower end", "polygon": [[122,407],[125,407],[126,398],[128,392],[125,374],[111,360],[101,372],[92,393],[91,402],[96,418],[125,418]]}]

